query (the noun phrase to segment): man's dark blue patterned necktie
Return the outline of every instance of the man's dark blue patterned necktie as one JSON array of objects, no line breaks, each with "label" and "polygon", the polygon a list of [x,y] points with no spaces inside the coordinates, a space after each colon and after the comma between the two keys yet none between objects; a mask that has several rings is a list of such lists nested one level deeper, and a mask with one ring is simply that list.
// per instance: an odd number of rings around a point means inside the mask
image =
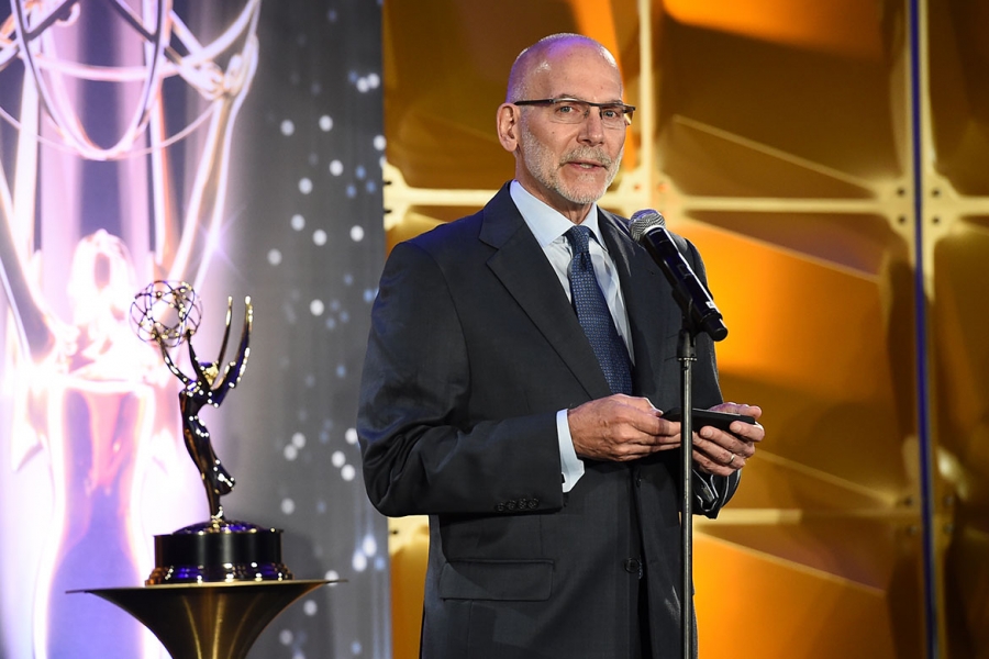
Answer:
[{"label": "man's dark blue patterned necktie", "polygon": [[625,343],[614,328],[614,320],[604,301],[604,293],[594,276],[590,252],[587,248],[591,231],[574,226],[567,231],[567,241],[574,258],[570,260],[570,297],[577,320],[601,364],[604,378],[612,393],[632,394],[632,366]]}]

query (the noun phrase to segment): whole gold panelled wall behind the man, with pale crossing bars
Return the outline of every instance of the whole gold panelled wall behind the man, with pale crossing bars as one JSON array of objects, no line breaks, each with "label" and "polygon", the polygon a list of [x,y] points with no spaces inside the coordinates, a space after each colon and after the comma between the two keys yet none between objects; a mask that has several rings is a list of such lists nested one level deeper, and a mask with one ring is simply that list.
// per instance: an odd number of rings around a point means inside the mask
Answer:
[{"label": "whole gold panelled wall behind the man, with pale crossing bars", "polygon": [[[930,634],[989,658],[989,3],[915,4],[385,3],[389,247],[511,178],[521,48],[580,32],[620,60],[640,111],[602,203],[698,244],[725,396],[767,427],[696,524],[702,657],[912,659]],[[397,658],[423,523],[395,525]]]}]

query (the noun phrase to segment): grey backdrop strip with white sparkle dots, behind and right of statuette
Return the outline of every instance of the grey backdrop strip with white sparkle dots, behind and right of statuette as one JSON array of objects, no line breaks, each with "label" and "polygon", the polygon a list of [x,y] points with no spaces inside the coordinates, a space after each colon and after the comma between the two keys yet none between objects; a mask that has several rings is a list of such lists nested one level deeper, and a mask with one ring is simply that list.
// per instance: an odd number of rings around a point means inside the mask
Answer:
[{"label": "grey backdrop strip with white sparkle dots, behind and right of statuette", "polygon": [[225,287],[210,291],[216,314],[226,294],[255,304],[247,372],[216,414],[238,479],[226,505],[285,530],[297,578],[345,581],[276,618],[251,657],[390,657],[388,532],[354,431],[385,245],[380,4],[269,2],[258,31]]}]

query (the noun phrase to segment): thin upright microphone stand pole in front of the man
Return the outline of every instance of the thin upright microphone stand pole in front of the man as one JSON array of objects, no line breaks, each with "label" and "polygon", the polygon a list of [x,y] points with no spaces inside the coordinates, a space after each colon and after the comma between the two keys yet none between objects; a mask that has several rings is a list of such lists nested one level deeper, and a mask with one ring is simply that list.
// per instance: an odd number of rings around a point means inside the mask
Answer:
[{"label": "thin upright microphone stand pole in front of the man", "polygon": [[698,328],[684,314],[684,326],[677,343],[677,360],[680,362],[680,437],[682,462],[680,466],[682,492],[680,518],[680,557],[682,559],[680,592],[680,647],[684,659],[693,658],[693,362],[697,361]]}]

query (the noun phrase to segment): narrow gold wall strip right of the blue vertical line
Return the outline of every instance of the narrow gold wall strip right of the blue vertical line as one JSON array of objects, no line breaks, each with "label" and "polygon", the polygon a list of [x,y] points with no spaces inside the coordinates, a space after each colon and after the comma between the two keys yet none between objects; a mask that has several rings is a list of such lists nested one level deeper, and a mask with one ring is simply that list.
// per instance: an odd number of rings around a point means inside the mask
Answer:
[{"label": "narrow gold wall strip right of the blue vertical line", "polygon": [[931,2],[924,79],[924,291],[930,301],[942,629],[989,658],[989,3]]}]

